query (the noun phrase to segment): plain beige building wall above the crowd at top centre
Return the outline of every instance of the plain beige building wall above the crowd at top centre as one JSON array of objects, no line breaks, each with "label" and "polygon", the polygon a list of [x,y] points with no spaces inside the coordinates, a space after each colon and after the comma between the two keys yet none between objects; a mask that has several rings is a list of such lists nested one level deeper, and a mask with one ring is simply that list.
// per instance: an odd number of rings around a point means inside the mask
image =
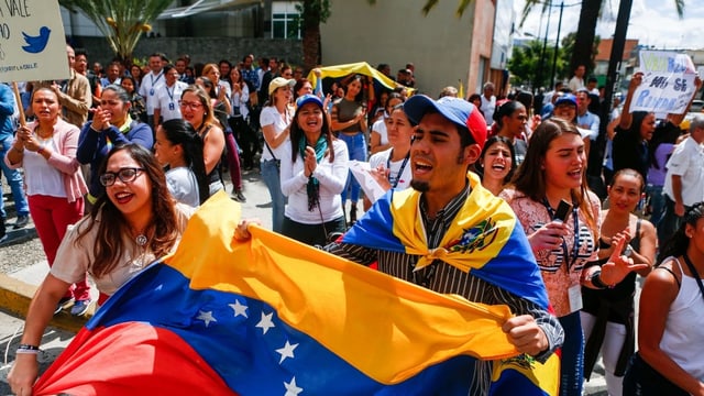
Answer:
[{"label": "plain beige building wall above the crowd at top centre", "polygon": [[[323,65],[366,61],[372,66],[387,63],[394,76],[411,62],[416,65],[417,88],[437,97],[446,86],[465,85],[476,79],[472,62],[472,40],[484,44],[482,54],[488,59],[492,51],[494,6],[492,0],[476,0],[462,18],[454,13],[457,1],[440,1],[424,16],[422,1],[384,0],[375,6],[366,1],[332,0],[330,19],[321,25]],[[476,7],[491,6],[482,12],[486,19],[477,35],[474,29]],[[486,16],[491,13],[491,16]],[[477,61],[479,63],[479,61]],[[473,87],[473,82],[470,82]]]}]

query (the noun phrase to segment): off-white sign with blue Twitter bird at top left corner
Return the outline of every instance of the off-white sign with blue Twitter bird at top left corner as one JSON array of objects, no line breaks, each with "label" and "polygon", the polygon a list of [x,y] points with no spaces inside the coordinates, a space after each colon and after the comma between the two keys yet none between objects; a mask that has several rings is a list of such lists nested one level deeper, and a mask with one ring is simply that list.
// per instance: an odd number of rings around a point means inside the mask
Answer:
[{"label": "off-white sign with blue Twitter bird at top left corner", "polygon": [[68,78],[57,0],[0,1],[0,81]]}]

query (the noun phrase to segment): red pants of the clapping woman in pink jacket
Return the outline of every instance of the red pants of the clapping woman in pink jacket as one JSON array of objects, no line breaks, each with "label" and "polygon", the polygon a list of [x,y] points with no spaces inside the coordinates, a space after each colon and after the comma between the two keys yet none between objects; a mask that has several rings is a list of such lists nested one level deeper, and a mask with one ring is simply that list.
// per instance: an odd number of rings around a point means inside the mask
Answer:
[{"label": "red pants of the clapping woman in pink jacket", "polygon": [[[28,197],[28,201],[30,215],[51,267],[54,265],[58,245],[66,234],[66,228],[84,217],[84,199],[69,202],[66,198],[33,195]],[[76,300],[89,299],[90,286],[86,278],[72,285],[65,297],[74,297]]]}]

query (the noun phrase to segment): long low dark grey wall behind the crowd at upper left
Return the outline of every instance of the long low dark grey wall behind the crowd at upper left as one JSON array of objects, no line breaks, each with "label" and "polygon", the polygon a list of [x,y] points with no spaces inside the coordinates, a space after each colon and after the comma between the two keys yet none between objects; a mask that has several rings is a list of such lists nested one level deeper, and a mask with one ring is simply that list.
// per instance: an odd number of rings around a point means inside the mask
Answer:
[{"label": "long low dark grey wall behind the crowd at upper left", "polygon": [[[114,56],[103,37],[73,37],[72,44],[88,51],[88,62],[107,65]],[[182,54],[190,55],[191,64],[228,59],[240,62],[248,54],[255,57],[276,56],[295,65],[302,64],[302,44],[296,40],[233,38],[233,37],[142,37],[134,50],[134,57],[145,59],[150,54],[162,52],[172,62]]]}]

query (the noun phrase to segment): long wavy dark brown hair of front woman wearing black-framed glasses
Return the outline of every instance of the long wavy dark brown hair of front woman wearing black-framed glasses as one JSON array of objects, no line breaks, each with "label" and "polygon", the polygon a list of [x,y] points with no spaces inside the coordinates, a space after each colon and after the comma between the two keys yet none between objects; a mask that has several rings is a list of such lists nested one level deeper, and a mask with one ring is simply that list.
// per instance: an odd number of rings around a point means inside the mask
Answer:
[{"label": "long wavy dark brown hair of front woman wearing black-framed glasses", "polygon": [[[98,170],[99,175],[106,173],[110,158],[121,151],[127,151],[130,156],[144,169],[146,177],[152,183],[152,224],[145,230],[146,235],[153,235],[148,240],[150,249],[156,257],[167,254],[178,238],[178,221],[174,208],[174,198],[168,193],[164,169],[158,164],[154,154],[136,143],[128,143],[114,146]],[[100,216],[100,221],[96,221]],[[100,277],[112,272],[123,263],[123,253],[128,249],[124,245],[124,235],[130,235],[131,230],[122,212],[112,204],[108,194],[103,194],[90,211],[88,227],[80,230],[76,243],[78,243],[94,227],[98,227],[96,245],[94,246],[95,262],[91,274]],[[130,239],[132,239],[130,237]]]}]

